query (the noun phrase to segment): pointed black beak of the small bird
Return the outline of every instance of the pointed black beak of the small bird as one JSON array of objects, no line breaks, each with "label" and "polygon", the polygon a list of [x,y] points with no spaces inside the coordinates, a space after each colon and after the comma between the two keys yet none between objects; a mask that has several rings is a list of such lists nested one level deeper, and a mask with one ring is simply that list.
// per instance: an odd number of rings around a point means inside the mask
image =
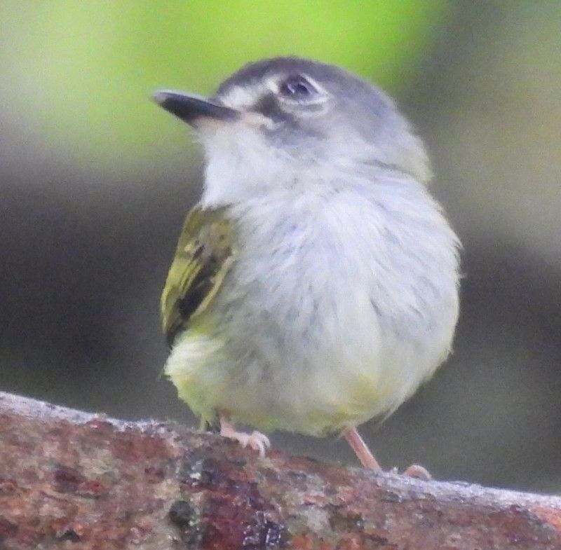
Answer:
[{"label": "pointed black beak of the small bird", "polygon": [[163,109],[191,125],[203,117],[213,118],[215,121],[234,121],[238,118],[238,111],[235,109],[185,92],[160,90],[152,95],[152,99]]}]

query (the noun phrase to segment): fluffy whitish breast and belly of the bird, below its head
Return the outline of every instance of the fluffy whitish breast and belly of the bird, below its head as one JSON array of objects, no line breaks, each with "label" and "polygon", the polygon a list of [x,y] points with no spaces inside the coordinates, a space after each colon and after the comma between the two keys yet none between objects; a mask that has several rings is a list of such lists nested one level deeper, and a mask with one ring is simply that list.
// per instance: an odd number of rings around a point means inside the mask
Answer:
[{"label": "fluffy whitish breast and belly of the bird, below its head", "polygon": [[212,406],[263,429],[336,431],[396,408],[447,356],[458,242],[417,182],[318,181],[232,215],[239,260],[201,381],[224,387]]}]

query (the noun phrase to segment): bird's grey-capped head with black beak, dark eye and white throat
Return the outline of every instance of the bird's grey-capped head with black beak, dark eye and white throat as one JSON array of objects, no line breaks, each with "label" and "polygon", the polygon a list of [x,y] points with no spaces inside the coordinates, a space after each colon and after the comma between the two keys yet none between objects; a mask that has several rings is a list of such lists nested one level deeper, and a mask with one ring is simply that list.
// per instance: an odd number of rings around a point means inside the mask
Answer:
[{"label": "bird's grey-capped head with black beak, dark eye and white throat", "polygon": [[329,64],[276,57],[246,65],[211,97],[162,90],[154,99],[196,128],[215,202],[294,187],[306,174],[430,177],[422,143],[391,99]]}]

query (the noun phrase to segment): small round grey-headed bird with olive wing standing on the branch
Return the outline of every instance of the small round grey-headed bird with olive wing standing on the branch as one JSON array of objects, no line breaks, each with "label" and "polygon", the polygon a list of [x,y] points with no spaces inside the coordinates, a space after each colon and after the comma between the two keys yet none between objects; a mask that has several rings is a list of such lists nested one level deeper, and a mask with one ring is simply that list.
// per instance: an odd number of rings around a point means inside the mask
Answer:
[{"label": "small round grey-headed bird with olive wing standing on the branch", "polygon": [[434,373],[458,317],[459,240],[421,140],[381,90],[298,57],[154,99],[205,152],[161,296],[180,399],[261,455],[262,432],[342,434],[380,470],[357,426]]}]

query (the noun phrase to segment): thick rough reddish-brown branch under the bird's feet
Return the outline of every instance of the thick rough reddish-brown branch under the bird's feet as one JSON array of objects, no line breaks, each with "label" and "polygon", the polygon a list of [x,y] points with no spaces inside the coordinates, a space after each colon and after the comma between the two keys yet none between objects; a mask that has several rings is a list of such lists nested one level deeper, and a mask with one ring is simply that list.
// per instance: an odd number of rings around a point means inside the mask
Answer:
[{"label": "thick rough reddish-brown branch under the bird's feet", "polygon": [[561,549],[561,498],[374,474],[0,393],[0,548]]}]

